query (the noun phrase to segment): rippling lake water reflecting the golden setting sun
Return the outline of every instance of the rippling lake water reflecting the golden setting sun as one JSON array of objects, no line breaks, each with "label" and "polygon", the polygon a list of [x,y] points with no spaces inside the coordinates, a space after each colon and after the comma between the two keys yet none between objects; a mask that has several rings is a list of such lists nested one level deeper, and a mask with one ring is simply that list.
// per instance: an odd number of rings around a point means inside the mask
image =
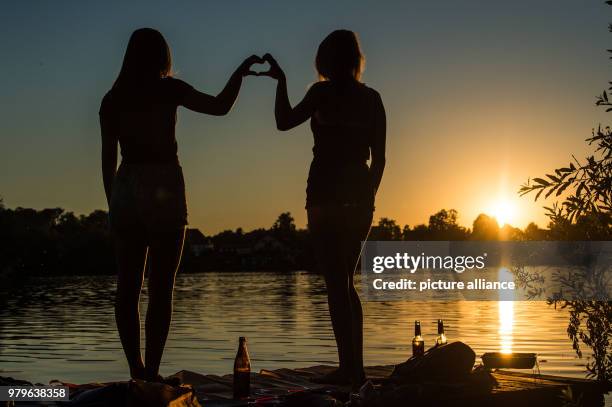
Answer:
[{"label": "rippling lake water reflecting the golden setting sun", "polygon": [[[125,379],[114,289],[113,277],[36,278],[0,288],[0,375],[41,383]],[[442,318],[449,340],[468,343],[478,355],[537,352],[543,373],[585,374],[585,360],[576,357],[565,332],[567,312],[544,302],[367,302],[364,310],[369,365],[405,360],[415,319],[429,346]],[[144,321],[146,303],[141,311]],[[322,277],[179,275],[161,373],[230,373],[242,335],[254,370],[336,363]]]}]

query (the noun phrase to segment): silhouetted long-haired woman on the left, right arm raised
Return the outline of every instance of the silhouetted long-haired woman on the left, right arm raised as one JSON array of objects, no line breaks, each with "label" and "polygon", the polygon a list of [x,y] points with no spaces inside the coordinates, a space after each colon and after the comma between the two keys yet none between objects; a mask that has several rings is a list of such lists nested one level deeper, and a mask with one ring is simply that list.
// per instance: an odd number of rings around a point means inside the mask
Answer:
[{"label": "silhouetted long-haired woman on the left, right arm raised", "polygon": [[[159,364],[172,316],[174,278],[187,224],[185,184],[174,135],[178,106],[227,114],[251,56],[217,96],[171,77],[170,49],[156,30],[134,31],[123,65],[100,107],[102,173],[118,263],[115,319],[130,375],[161,381]],[[117,170],[117,145],[121,165]],[[139,297],[149,263],[146,353],[140,353]]]}]

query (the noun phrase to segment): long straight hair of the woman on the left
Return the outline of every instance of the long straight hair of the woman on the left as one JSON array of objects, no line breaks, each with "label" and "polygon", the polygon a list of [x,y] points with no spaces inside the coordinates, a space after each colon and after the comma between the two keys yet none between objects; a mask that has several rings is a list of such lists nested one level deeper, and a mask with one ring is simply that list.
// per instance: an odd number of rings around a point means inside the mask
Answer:
[{"label": "long straight hair of the woman on the left", "polygon": [[153,28],[139,28],[130,37],[113,88],[164,78],[171,69],[172,56],[164,36]]}]

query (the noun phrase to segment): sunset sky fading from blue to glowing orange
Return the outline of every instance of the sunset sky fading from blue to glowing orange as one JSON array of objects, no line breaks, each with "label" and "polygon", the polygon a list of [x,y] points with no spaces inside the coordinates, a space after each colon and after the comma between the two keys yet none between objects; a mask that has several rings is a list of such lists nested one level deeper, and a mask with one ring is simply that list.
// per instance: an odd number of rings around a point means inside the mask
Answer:
[{"label": "sunset sky fading from blue to glowing orange", "polygon": [[[359,34],[363,80],[388,120],[375,218],[411,226],[439,209],[471,225],[481,212],[546,225],[519,198],[529,177],[585,156],[608,117],[603,1],[27,1],[0,13],[0,197],[9,207],[106,209],[98,108],[131,32],[159,29],[175,76],[216,94],[250,54],[272,53],[292,103],[316,80],[332,30]],[[308,124],[276,130],[275,83],[247,78],[225,117],[179,109],[189,221],[205,233],[269,227],[290,211],[305,226]]]}]

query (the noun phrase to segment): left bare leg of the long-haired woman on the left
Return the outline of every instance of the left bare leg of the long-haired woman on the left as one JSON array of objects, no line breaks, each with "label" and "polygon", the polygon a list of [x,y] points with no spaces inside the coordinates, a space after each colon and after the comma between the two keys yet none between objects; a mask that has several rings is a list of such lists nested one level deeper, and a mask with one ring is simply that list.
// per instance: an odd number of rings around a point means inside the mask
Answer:
[{"label": "left bare leg of the long-haired woman on the left", "polygon": [[147,262],[147,246],[137,236],[115,236],[114,243],[118,263],[115,321],[130,366],[130,376],[144,379],[138,302]]}]

